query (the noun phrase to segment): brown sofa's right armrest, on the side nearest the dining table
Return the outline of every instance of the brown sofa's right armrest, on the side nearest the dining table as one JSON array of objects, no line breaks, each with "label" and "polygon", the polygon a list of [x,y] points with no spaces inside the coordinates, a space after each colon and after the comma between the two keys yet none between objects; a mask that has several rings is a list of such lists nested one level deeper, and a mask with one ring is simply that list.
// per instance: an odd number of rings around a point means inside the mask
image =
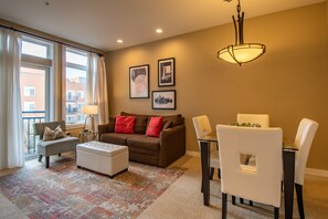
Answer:
[{"label": "brown sofa's right armrest, on the side nearest the dining table", "polygon": [[159,166],[167,167],[186,154],[186,126],[178,125],[160,133]]}]

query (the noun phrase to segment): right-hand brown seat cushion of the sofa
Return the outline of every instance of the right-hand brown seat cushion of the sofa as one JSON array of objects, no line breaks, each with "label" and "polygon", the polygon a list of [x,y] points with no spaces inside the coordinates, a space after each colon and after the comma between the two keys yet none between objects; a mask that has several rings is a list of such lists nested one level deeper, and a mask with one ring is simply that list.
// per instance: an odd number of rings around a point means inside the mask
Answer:
[{"label": "right-hand brown seat cushion of the sofa", "polygon": [[131,135],[127,139],[127,146],[158,152],[159,138],[148,137],[146,135]]}]

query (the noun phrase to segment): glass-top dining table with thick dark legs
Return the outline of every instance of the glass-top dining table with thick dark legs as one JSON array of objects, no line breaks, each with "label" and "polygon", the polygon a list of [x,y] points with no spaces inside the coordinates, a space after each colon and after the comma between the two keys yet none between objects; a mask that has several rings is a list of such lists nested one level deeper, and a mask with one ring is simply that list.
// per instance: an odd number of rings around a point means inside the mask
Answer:
[{"label": "glass-top dining table with thick dark legs", "polygon": [[[198,139],[201,147],[202,166],[202,192],[204,206],[210,205],[210,143],[218,143],[214,134],[202,136]],[[285,138],[283,142],[287,142]],[[219,145],[220,147],[220,145]],[[293,218],[294,206],[294,177],[295,177],[295,152],[297,147],[294,144],[282,143],[283,149],[283,170],[284,170],[284,198],[285,198],[285,218]]]}]

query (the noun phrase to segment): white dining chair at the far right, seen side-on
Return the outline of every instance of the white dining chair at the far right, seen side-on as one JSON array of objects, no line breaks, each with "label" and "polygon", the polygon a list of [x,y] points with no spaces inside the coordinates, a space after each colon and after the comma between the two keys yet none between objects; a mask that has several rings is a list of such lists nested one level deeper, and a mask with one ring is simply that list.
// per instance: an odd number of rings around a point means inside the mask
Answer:
[{"label": "white dining chair at the far right, seen side-on", "polygon": [[295,189],[299,218],[305,218],[303,205],[303,185],[308,154],[319,124],[309,118],[303,118],[298,125],[295,146],[298,148],[295,157]]}]

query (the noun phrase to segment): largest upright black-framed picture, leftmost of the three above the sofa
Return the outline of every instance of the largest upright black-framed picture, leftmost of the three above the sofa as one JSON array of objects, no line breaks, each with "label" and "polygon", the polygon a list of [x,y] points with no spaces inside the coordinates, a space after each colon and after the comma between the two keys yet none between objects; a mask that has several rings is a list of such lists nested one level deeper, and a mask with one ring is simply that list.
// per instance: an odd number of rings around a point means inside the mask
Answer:
[{"label": "largest upright black-framed picture, leftmost of the three above the sofa", "polygon": [[129,67],[130,98],[149,98],[149,64]]}]

